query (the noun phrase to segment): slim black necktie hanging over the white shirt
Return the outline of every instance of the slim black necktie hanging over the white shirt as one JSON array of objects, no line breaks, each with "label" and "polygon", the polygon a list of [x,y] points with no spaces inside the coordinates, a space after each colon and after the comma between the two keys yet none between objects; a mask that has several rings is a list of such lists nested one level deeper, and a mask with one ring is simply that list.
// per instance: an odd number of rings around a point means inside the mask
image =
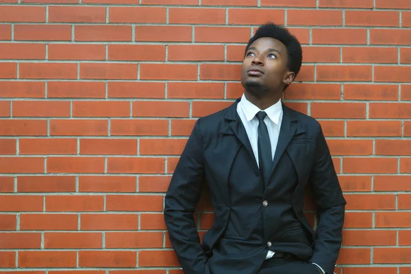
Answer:
[{"label": "slim black necktie hanging over the white shirt", "polygon": [[256,114],[258,118],[258,162],[260,165],[260,172],[264,179],[264,184],[268,181],[273,164],[273,156],[271,155],[271,142],[269,130],[264,123],[264,118],[267,114],[260,111]]}]

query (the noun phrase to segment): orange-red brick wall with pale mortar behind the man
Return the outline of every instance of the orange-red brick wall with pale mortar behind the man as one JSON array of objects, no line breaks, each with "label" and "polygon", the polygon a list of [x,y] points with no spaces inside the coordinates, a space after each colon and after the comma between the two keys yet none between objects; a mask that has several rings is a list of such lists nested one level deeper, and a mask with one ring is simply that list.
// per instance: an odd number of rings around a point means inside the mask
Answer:
[{"label": "orange-red brick wall with pale mortar behind the man", "polygon": [[182,273],[164,192],[275,21],[303,44],[286,103],[321,121],[348,201],[337,272],[411,273],[411,1],[0,3],[1,271]]}]

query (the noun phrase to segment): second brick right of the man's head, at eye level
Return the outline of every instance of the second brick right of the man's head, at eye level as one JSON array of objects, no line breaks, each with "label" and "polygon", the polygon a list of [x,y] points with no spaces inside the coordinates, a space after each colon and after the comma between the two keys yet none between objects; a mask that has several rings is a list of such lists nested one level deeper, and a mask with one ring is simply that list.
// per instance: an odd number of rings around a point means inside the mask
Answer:
[{"label": "second brick right of the man's head, at eye level", "polygon": [[343,47],[345,63],[395,63],[398,53],[388,47]]}]

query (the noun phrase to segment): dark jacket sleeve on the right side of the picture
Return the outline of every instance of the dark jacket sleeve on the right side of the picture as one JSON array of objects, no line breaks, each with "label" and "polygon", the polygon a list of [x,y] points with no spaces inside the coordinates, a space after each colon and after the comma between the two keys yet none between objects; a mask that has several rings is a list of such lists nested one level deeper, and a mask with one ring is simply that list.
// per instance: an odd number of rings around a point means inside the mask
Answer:
[{"label": "dark jacket sleeve on the right side of the picture", "polygon": [[343,241],[346,201],[320,125],[314,155],[310,184],[316,201],[319,222],[316,227],[311,262],[319,264],[327,274],[332,274]]}]

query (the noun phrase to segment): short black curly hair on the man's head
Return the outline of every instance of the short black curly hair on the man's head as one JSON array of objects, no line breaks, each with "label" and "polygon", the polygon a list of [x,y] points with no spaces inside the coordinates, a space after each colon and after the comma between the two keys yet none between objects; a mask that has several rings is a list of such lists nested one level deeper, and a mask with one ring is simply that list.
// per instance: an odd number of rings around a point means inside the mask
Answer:
[{"label": "short black curly hair on the man's head", "polygon": [[256,34],[249,40],[247,47],[245,48],[245,54],[250,45],[259,38],[271,37],[282,42],[287,48],[287,68],[295,73],[295,77],[301,69],[301,62],[303,61],[303,52],[301,50],[301,44],[299,40],[290,34],[288,29],[275,23],[265,23],[257,29]]}]

